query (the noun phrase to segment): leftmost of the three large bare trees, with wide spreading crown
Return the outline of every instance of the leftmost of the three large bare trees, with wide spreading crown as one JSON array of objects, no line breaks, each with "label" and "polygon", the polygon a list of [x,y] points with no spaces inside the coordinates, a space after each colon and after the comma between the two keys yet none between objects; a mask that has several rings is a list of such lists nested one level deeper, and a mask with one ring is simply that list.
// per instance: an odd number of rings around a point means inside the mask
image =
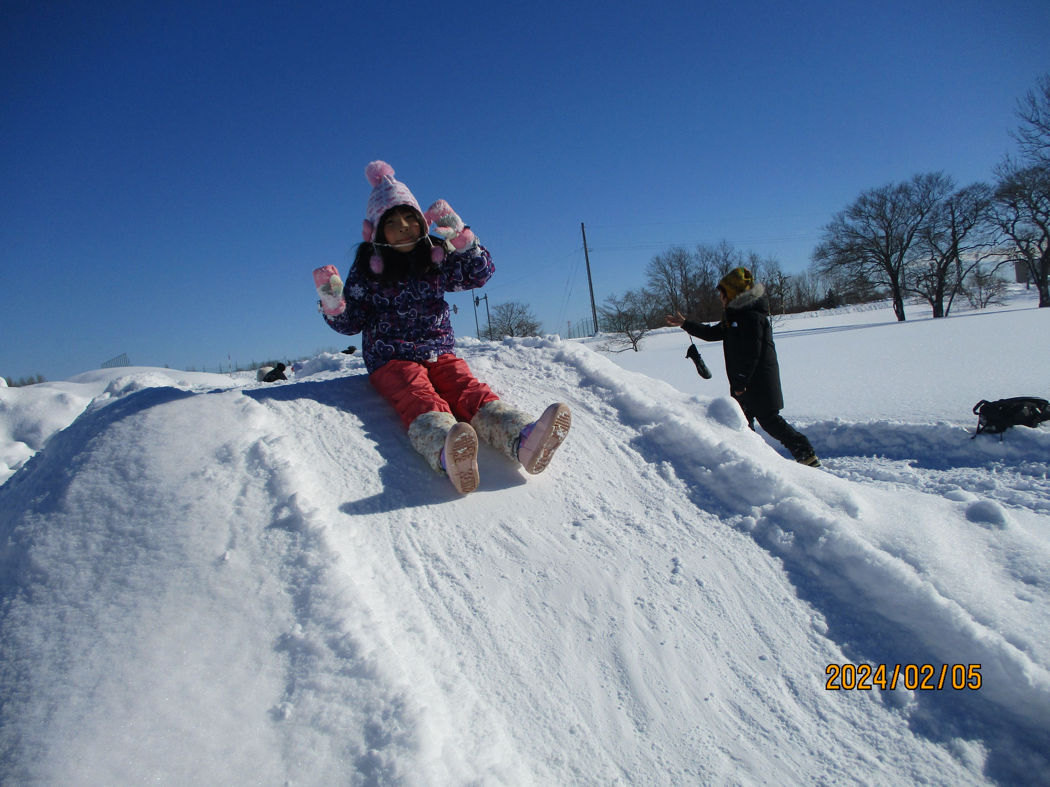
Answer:
[{"label": "leftmost of the three large bare trees, with wide spreading crown", "polygon": [[862,192],[824,227],[824,237],[813,252],[818,270],[852,269],[889,288],[894,313],[903,321],[907,265],[916,235],[951,187],[950,178],[931,172]]}]

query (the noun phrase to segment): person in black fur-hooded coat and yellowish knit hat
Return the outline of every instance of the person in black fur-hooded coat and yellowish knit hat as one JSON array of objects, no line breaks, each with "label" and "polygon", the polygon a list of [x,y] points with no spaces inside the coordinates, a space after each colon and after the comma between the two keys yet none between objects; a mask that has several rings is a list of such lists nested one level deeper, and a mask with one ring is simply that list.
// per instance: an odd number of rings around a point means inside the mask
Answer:
[{"label": "person in black fur-hooded coat and yellowish knit hat", "polygon": [[780,366],[764,293],[765,288],[755,281],[751,271],[734,268],[718,282],[718,295],[726,307],[721,322],[713,325],[691,322],[676,312],[674,317],[668,316],[667,323],[704,341],[720,341],[730,393],[740,403],[748,426],[754,429],[757,420],[770,437],[791,451],[796,462],[820,467],[810,441],[780,416],[784,406]]}]

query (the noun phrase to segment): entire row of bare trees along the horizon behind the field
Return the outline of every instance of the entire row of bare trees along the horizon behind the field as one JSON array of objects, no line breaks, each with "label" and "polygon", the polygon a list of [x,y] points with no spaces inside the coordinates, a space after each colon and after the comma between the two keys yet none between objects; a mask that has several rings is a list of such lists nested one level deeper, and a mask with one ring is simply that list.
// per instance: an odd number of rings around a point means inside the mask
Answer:
[{"label": "entire row of bare trees along the horizon behind the field", "polygon": [[994,302],[1005,288],[998,271],[1027,272],[1050,306],[1050,75],[1017,104],[1012,132],[1020,156],[994,169],[993,184],[960,188],[943,172],[919,174],[861,193],[823,228],[808,271],[786,275],[775,257],[743,253],[728,241],[672,247],[646,268],[646,283],[606,299],[607,349],[637,349],[642,338],[680,312],[709,321],[721,315],[715,286],[744,265],[764,282],[772,314],[891,298],[898,320],[907,298],[946,317],[957,299]]}]

